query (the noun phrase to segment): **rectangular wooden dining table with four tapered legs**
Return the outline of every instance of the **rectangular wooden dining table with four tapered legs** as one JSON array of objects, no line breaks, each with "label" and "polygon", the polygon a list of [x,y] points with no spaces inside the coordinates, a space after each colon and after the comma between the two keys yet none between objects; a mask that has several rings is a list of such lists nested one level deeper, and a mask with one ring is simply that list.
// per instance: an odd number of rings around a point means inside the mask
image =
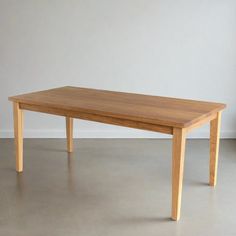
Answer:
[{"label": "rectangular wooden dining table with four tapered legs", "polygon": [[23,110],[66,117],[67,150],[73,151],[73,118],[173,135],[172,219],[180,218],[186,134],[210,122],[209,183],[216,185],[224,104],[62,87],[9,98],[14,106],[16,171],[23,171]]}]

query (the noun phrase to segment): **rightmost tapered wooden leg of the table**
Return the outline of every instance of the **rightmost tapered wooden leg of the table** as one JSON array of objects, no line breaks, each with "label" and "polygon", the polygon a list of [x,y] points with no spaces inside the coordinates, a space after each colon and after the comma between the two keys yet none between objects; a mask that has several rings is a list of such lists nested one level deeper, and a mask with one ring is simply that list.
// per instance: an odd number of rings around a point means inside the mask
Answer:
[{"label": "rightmost tapered wooden leg of the table", "polygon": [[209,183],[211,186],[216,186],[219,142],[220,142],[220,124],[221,112],[217,113],[217,117],[211,121],[210,127],[210,174]]}]

